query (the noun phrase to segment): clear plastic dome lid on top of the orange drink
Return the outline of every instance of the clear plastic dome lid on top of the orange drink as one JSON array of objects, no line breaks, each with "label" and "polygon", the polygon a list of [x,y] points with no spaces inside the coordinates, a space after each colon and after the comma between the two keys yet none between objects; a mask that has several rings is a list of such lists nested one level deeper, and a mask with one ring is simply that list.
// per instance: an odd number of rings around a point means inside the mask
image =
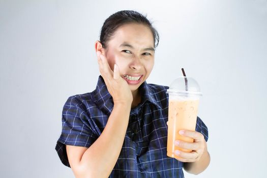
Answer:
[{"label": "clear plastic dome lid on top of the orange drink", "polygon": [[192,77],[178,77],[171,82],[168,94],[202,96],[199,84]]}]

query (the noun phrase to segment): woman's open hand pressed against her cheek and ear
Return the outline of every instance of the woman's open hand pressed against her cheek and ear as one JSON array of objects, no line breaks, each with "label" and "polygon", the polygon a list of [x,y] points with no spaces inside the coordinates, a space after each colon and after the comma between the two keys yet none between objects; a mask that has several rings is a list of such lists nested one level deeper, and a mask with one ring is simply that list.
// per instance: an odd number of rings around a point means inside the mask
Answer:
[{"label": "woman's open hand pressed against her cheek and ear", "polygon": [[106,57],[97,51],[98,65],[101,76],[107,85],[107,90],[113,98],[113,102],[132,104],[133,95],[125,79],[120,76],[118,66],[114,64],[114,72],[110,69]]}]

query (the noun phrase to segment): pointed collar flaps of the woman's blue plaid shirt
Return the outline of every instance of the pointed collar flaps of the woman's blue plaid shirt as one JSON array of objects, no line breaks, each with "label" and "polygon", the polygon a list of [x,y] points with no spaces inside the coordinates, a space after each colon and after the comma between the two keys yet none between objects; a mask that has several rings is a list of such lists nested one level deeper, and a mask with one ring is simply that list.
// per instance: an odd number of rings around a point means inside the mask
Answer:
[{"label": "pointed collar flaps of the woman's blue plaid shirt", "polygon": [[[157,107],[161,108],[161,106],[159,105],[160,102],[157,100],[156,93],[154,92],[150,84],[147,84],[146,81],[144,81],[139,86],[139,90],[142,95],[141,104],[149,101]],[[113,99],[109,94],[105,81],[101,75],[98,78],[97,87],[95,90],[95,102],[100,108],[104,108],[108,113],[111,113],[114,105]]]}]

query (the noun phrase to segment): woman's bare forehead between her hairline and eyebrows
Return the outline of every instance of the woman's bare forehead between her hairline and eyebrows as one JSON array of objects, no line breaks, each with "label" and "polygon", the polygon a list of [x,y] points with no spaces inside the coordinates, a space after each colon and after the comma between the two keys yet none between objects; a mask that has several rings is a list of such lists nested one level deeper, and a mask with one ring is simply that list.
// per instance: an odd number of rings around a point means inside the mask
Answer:
[{"label": "woman's bare forehead between her hairline and eyebrows", "polygon": [[128,42],[136,48],[154,47],[154,37],[151,29],[143,24],[129,23],[118,27],[109,41],[114,47]]}]

